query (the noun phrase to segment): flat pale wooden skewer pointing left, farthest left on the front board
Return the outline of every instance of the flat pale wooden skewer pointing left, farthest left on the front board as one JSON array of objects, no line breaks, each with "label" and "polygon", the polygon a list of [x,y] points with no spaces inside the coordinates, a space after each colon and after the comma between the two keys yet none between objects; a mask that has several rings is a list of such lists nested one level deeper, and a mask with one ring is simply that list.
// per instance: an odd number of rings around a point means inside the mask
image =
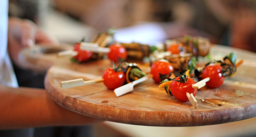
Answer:
[{"label": "flat pale wooden skewer pointing left, farthest left on the front board", "polygon": [[77,87],[77,86],[84,86],[84,85],[99,83],[99,82],[103,82],[103,81],[104,81],[103,78],[89,80],[89,81],[84,81],[82,78],[78,78],[78,79],[73,79],[73,80],[69,80],[69,81],[62,81],[60,83],[60,87],[62,87],[63,89],[67,89],[67,88],[72,88],[72,87]]}]

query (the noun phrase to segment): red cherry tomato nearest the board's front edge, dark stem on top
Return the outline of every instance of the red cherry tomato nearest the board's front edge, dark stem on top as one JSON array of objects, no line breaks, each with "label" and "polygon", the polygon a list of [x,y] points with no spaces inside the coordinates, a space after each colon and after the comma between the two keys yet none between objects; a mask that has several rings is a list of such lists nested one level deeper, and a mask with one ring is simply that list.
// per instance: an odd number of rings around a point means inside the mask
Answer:
[{"label": "red cherry tomato nearest the board's front edge, dark stem on top", "polygon": [[[175,80],[179,80],[179,77],[175,78]],[[193,96],[196,96],[197,89],[192,88],[192,85],[195,83],[191,78],[188,78],[188,81],[185,83],[173,81],[171,83],[171,94],[179,101],[188,101],[186,92],[189,94],[193,93]]]}]

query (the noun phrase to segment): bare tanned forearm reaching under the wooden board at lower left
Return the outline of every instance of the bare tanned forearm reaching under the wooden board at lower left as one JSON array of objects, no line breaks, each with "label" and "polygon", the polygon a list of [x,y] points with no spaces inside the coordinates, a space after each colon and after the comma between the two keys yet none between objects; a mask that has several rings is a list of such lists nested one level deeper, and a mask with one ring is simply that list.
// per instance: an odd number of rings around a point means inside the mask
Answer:
[{"label": "bare tanned forearm reaching under the wooden board at lower left", "polygon": [[54,103],[43,89],[0,85],[0,109],[0,129],[85,125],[98,121]]}]

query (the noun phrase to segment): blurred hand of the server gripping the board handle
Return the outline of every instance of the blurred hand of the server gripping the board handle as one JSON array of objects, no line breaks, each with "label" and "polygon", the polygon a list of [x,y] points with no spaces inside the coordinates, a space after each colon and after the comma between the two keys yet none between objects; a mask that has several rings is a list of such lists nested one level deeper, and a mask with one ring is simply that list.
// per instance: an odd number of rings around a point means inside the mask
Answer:
[{"label": "blurred hand of the server gripping the board handle", "polygon": [[35,23],[11,17],[8,23],[8,51],[15,64],[19,65],[18,54],[24,47],[35,44],[57,44],[57,39],[40,30]]}]

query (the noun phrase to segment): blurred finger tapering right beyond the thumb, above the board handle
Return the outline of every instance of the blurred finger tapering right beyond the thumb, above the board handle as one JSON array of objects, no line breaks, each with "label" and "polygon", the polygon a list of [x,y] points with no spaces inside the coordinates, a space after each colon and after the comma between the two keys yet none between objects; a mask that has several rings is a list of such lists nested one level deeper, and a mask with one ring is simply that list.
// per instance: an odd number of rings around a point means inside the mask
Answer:
[{"label": "blurred finger tapering right beyond the thumb, above the board handle", "polygon": [[59,41],[55,37],[43,32],[41,29],[37,29],[35,41],[37,44],[59,44]]}]

